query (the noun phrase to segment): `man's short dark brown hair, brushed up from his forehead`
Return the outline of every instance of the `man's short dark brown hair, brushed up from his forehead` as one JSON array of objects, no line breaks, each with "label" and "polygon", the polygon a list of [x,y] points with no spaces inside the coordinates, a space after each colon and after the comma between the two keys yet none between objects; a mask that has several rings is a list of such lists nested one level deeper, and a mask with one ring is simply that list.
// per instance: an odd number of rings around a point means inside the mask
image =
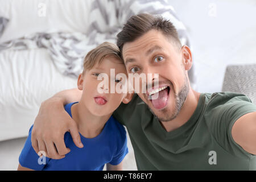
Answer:
[{"label": "man's short dark brown hair, brushed up from his forehead", "polygon": [[177,30],[169,20],[164,19],[160,15],[142,13],[131,16],[123,26],[122,31],[117,34],[117,46],[120,49],[121,56],[125,43],[133,42],[135,39],[146,34],[146,32],[154,29],[161,31],[163,35],[170,38],[178,47],[181,47]]}]

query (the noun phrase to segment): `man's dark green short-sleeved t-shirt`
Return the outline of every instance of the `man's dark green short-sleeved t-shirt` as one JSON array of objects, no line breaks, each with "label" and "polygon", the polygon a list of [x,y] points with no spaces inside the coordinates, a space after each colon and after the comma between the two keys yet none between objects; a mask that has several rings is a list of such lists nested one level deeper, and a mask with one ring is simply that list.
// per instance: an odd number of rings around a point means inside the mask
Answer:
[{"label": "man's dark green short-sleeved t-shirt", "polygon": [[135,94],[114,117],[127,127],[138,170],[256,170],[256,156],[231,134],[234,122],[254,111],[243,94],[201,93],[191,118],[167,132]]}]

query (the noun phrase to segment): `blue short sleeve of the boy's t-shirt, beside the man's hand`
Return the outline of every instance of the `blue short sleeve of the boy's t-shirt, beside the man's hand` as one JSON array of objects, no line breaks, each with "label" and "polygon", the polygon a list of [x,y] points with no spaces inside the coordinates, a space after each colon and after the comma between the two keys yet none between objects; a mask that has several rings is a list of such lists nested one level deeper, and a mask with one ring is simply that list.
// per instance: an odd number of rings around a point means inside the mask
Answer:
[{"label": "blue short sleeve of the boy's t-shirt, beside the man's hand", "polygon": [[32,143],[31,143],[32,127],[33,126],[31,126],[30,128],[30,131],[28,133],[28,137],[24,144],[22,152],[19,155],[19,164],[22,167],[40,171],[49,162],[49,158],[45,156],[42,156],[42,158],[40,158],[38,154],[36,154],[34,148],[32,147]]}]

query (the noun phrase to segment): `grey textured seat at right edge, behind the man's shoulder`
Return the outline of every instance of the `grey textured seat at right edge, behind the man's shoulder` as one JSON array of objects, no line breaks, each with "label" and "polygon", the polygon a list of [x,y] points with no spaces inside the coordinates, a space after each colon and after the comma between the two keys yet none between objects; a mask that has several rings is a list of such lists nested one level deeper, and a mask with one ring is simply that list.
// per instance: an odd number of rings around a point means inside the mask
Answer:
[{"label": "grey textured seat at right edge, behind the man's shoulder", "polygon": [[226,91],[245,94],[256,105],[256,64],[229,65],[222,85]]}]

